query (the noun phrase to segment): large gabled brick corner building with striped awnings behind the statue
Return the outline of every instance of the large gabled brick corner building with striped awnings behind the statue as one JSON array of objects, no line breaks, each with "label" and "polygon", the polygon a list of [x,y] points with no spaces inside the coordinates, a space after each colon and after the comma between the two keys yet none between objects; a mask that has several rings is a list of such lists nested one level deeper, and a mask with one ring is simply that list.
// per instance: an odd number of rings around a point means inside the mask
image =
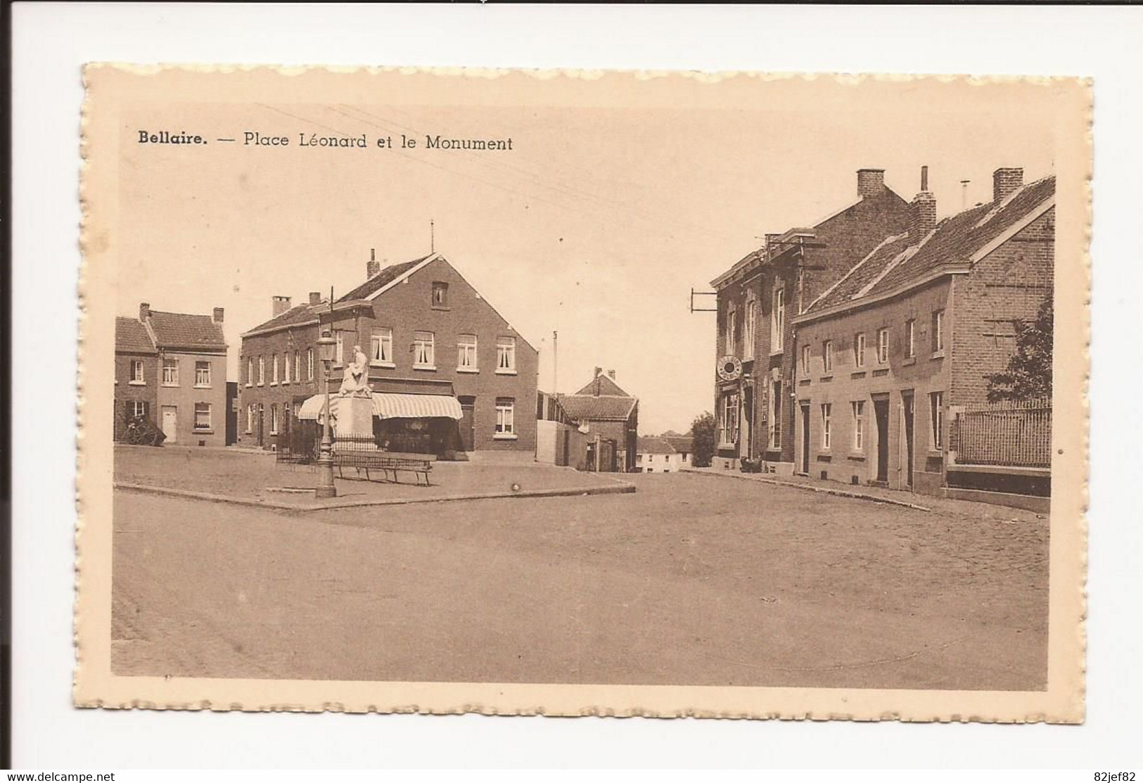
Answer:
[{"label": "large gabled brick corner building with striped awnings behind the statue", "polygon": [[[528,341],[438,253],[385,269],[370,261],[366,275],[333,305],[277,296],[272,318],[242,335],[240,442],[274,448],[298,426],[321,391],[317,341],[329,329],[331,391],[361,346],[375,406],[392,404],[374,421],[389,449],[533,460],[539,354]],[[434,415],[434,402],[442,414],[458,404],[459,422]]]}]

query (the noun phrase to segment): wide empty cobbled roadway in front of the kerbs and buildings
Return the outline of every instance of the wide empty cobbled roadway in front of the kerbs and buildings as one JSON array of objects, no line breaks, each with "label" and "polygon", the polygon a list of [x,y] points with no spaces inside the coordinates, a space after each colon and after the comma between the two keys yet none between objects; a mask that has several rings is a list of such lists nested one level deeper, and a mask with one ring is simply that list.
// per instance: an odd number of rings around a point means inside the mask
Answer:
[{"label": "wide empty cobbled roadway in front of the kerbs and buildings", "polygon": [[1048,524],[705,476],[315,511],[115,493],[119,674],[1041,689]]}]

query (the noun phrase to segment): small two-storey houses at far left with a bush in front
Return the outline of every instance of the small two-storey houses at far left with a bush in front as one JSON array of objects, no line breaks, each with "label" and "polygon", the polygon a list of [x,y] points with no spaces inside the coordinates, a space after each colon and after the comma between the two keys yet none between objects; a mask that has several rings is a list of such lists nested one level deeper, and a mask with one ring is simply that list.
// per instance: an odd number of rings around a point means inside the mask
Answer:
[{"label": "small two-storey houses at far left with a bush in front", "polygon": [[139,305],[115,319],[115,439],[146,416],[166,444],[226,445],[226,339],[223,309],[210,315]]}]

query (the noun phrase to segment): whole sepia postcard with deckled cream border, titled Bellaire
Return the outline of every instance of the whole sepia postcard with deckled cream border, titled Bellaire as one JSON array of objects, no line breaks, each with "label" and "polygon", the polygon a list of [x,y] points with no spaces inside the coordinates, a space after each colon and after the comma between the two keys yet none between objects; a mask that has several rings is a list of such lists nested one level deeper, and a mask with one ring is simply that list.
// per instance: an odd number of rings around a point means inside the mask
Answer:
[{"label": "whole sepia postcard with deckled cream border, titled Bellaire", "polygon": [[1084,81],[85,85],[77,705],[1082,720]]}]

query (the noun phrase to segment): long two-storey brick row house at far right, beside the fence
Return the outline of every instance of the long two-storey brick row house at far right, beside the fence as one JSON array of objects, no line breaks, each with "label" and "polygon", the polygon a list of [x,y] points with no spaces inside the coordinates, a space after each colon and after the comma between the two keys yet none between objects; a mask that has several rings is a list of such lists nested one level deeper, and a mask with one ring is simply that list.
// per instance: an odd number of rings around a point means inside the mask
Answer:
[{"label": "long two-storey brick row house at far right, beside the fence", "polygon": [[940,494],[973,470],[951,422],[985,404],[1014,321],[1052,295],[1054,221],[1055,178],[1004,168],[990,203],[938,223],[922,173],[908,229],[793,318],[798,472]]}]

